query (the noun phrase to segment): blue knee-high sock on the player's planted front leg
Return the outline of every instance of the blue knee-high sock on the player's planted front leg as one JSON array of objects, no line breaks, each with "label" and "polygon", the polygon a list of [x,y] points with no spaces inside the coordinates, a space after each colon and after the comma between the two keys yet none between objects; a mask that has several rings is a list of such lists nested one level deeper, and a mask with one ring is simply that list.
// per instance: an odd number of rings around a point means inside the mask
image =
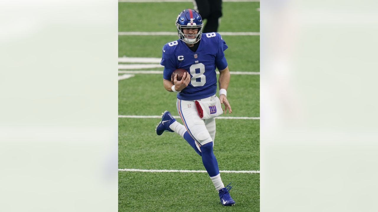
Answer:
[{"label": "blue knee-high sock on the player's planted front leg", "polygon": [[210,177],[214,177],[219,174],[218,161],[212,151],[212,144],[213,142],[211,141],[210,143],[204,144],[200,147],[202,152],[202,163]]}]

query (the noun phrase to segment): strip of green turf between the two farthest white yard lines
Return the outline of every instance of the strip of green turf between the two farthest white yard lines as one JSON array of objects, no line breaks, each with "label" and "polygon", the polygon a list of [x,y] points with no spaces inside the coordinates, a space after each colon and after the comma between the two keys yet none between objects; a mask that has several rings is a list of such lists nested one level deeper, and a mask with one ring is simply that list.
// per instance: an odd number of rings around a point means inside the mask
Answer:
[{"label": "strip of green turf between the two farthest white yard lines", "polygon": [[[220,32],[260,32],[260,2],[223,2],[222,7]],[[193,3],[118,3],[118,31],[171,32],[177,15],[187,8]]]}]

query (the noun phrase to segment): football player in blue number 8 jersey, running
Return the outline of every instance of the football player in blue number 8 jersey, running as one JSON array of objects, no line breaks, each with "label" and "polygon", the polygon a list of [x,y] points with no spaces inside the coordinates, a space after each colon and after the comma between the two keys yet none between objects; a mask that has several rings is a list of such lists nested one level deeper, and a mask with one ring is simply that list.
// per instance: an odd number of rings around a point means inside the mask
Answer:
[{"label": "football player in blue number 8 jersey, running", "polygon": [[[218,98],[215,96],[217,92],[215,69],[218,68],[220,72],[218,101],[225,105],[225,113],[227,110],[229,113],[232,112],[226,98],[230,73],[223,52],[228,46],[216,32],[202,34],[202,18],[194,9],[180,12],[176,19],[176,27],[179,39],[163,46],[160,64],[164,66],[164,88],[170,92],[177,92],[177,111],[184,125],[178,123],[169,111],[165,111],[156,126],[156,134],[161,135],[164,131],[168,131],[181,135],[202,157],[203,166],[218,191],[220,203],[224,206],[233,206],[235,201],[229,194],[231,183],[224,186],[213,153],[215,119],[201,119],[195,105],[195,100],[208,102]],[[189,74],[184,73],[180,81],[175,75],[173,84],[171,74],[178,68],[187,70]]]}]

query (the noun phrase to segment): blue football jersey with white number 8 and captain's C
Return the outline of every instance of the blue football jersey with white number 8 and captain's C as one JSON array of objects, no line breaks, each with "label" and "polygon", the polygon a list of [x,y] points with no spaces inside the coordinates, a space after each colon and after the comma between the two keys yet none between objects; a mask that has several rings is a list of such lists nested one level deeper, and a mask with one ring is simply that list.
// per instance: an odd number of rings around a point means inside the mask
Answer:
[{"label": "blue football jersey with white number 8 and captain's C", "polygon": [[197,51],[193,52],[182,40],[172,41],[163,46],[160,64],[164,66],[163,78],[170,80],[175,69],[182,68],[189,72],[191,81],[177,94],[180,100],[207,98],[217,92],[217,74],[215,69],[227,67],[225,51],[228,48],[220,34],[203,33]]}]

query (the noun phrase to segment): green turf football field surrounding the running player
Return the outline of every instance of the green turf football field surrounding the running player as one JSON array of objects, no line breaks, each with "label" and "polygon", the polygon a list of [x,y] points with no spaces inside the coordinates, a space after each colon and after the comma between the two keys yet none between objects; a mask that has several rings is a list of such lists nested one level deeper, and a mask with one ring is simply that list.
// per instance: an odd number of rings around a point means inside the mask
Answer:
[{"label": "green turf football field surrounding the running player", "polygon": [[[177,14],[192,8],[181,3],[118,3],[119,32],[176,32]],[[219,32],[259,32],[259,2],[223,2]],[[158,14],[158,18],[156,18]],[[206,23],[206,22],[205,22]],[[222,36],[230,71],[260,71],[260,36]],[[161,57],[161,48],[177,40],[171,35],[119,35],[118,57]],[[121,64],[121,63],[120,63]],[[133,64],[133,63],[122,63]],[[134,70],[157,70],[148,68]],[[119,73],[119,75],[123,75]],[[218,95],[218,94],[217,94]],[[227,98],[232,114],[222,117],[260,117],[260,75],[231,75]],[[177,116],[176,95],[163,87],[162,74],[135,74],[118,81],[118,115]],[[158,136],[160,118],[118,118],[118,168],[204,170],[201,157],[178,134]],[[182,123],[180,119],[178,122]],[[219,169],[260,170],[260,120],[217,119],[214,155]],[[259,211],[260,174],[221,173],[232,181],[233,207],[219,203],[207,173],[118,173],[119,211]]]}]

